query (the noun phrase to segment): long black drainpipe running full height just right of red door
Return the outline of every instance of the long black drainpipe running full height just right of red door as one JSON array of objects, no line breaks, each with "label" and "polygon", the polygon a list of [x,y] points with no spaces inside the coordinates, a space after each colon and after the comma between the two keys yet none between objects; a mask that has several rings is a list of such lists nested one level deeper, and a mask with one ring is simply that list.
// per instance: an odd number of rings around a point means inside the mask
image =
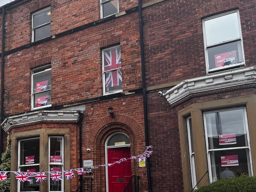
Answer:
[{"label": "long black drainpipe running full height just right of red door", "polygon": [[[146,146],[149,146],[149,131],[148,131],[148,127],[147,127],[147,95],[146,95],[146,79],[145,79],[141,0],[138,0],[138,4],[139,4],[139,39],[140,39],[140,48],[141,48],[141,70],[142,70],[142,93],[143,93],[145,142],[146,142]],[[149,192],[152,192],[149,158],[147,158],[146,167],[147,167],[147,183],[148,183],[148,187],[149,187]]]}]

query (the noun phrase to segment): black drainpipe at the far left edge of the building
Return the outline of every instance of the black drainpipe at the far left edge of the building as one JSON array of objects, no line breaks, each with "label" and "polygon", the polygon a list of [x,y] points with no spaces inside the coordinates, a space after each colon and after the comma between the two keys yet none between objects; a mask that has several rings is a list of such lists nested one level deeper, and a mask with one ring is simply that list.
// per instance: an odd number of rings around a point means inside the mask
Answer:
[{"label": "black drainpipe at the far left edge of the building", "polygon": [[[1,118],[0,118],[0,123],[3,122],[3,68],[4,68],[4,63],[5,63],[5,7],[2,7],[2,63],[1,63]],[[0,127],[0,157],[2,156],[2,145],[3,143],[3,129]],[[2,160],[0,158],[0,163],[2,163]]]}]

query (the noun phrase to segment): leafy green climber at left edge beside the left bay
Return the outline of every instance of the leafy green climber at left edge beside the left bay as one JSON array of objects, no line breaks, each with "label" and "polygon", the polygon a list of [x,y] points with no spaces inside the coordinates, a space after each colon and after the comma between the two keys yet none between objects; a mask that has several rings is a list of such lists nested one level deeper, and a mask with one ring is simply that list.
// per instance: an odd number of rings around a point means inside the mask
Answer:
[{"label": "leafy green climber at left edge beside the left bay", "polygon": [[[4,153],[2,153],[2,163],[0,165],[1,171],[11,170],[11,143],[9,142],[9,135],[7,137],[7,148]],[[10,173],[7,173],[7,182],[0,182],[0,192],[9,192],[11,186]]]}]

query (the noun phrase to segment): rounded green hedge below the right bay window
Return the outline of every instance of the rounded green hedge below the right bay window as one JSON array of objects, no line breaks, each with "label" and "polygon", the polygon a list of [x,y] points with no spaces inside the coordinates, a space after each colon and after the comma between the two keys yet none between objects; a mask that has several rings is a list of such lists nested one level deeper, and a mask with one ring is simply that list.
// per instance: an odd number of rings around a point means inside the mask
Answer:
[{"label": "rounded green hedge below the right bay window", "polygon": [[199,187],[194,192],[255,192],[256,177],[241,175],[234,178],[223,178],[208,186]]}]

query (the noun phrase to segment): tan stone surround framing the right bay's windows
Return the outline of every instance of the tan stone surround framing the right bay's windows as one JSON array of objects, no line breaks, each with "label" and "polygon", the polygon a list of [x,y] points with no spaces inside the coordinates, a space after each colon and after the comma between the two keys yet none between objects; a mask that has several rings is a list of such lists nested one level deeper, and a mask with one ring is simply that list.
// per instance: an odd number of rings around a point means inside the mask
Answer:
[{"label": "tan stone surround framing the right bay's windows", "polygon": [[[206,142],[205,142],[205,128],[204,128],[204,112],[213,111],[213,110],[225,110],[231,108],[245,107],[248,120],[248,130],[249,130],[249,140],[251,147],[251,156],[256,155],[256,140],[253,139],[256,137],[256,130],[254,125],[256,124],[256,95],[245,95],[234,98],[224,98],[214,101],[205,101],[200,103],[193,103],[190,106],[187,106],[178,111],[178,120],[179,120],[179,137],[181,143],[181,160],[182,160],[182,174],[183,174],[183,183],[184,191],[191,190],[191,166],[190,166],[190,154],[189,154],[189,143],[187,135],[187,118],[191,116],[192,127],[193,127],[193,144],[195,149],[195,169],[196,169],[196,179],[199,181],[197,187],[209,185],[210,173],[205,174],[208,170],[208,160],[207,151],[206,151]],[[208,161],[207,161],[208,160]],[[251,159],[251,175],[256,175],[256,169],[253,167],[256,166],[256,159]],[[210,171],[210,169],[209,169]],[[205,175],[203,177],[203,175]]]}]

